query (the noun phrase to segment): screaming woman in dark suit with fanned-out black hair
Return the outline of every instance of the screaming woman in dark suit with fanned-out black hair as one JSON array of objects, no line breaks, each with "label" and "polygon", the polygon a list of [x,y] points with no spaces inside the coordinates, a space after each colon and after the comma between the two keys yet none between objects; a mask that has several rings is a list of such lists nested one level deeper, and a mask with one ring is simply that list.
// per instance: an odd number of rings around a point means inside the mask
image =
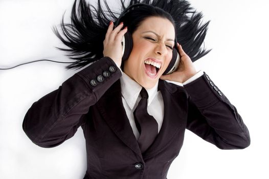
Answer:
[{"label": "screaming woman in dark suit with fanned-out black hair", "polygon": [[[221,149],[250,145],[236,108],[192,64],[208,53],[200,50],[208,25],[198,26],[201,14],[191,12],[186,1],[139,3],[130,1],[116,27],[110,22],[107,28],[106,16],[116,19],[111,10],[104,13],[99,2],[94,14],[80,1],[78,15],[75,2],[73,25],[62,23],[66,38],[56,34],[76,60],[69,68],[94,63],[35,102],[24,119],[28,137],[41,147],[63,143],[81,126],[87,151],[84,178],[166,178],[186,128]],[[133,47],[122,61],[121,39],[127,32]],[[181,63],[163,75],[173,48]],[[143,111],[150,125],[139,116],[143,108],[151,115]]]}]

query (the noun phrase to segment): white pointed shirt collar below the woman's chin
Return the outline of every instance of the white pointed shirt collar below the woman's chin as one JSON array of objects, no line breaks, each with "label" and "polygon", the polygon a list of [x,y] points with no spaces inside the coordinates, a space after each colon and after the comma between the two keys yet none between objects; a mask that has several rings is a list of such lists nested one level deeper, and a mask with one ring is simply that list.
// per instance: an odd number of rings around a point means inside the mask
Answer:
[{"label": "white pointed shirt collar below the woman's chin", "polygon": [[[128,106],[132,109],[136,101],[139,97],[142,86],[138,84],[136,81],[132,80],[128,75],[124,72],[122,73],[121,81],[121,94]],[[151,104],[152,100],[156,96],[158,92],[158,83],[159,81],[150,89],[146,89],[148,93],[148,106]]]}]

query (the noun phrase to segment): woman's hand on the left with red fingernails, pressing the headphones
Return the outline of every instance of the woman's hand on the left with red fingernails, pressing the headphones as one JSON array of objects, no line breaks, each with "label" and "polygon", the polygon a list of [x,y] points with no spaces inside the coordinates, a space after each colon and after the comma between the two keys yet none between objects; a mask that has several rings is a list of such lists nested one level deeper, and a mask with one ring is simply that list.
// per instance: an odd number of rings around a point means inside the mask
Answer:
[{"label": "woman's hand on the left with red fingernails, pressing the headphones", "polygon": [[107,32],[105,34],[105,40],[103,41],[104,44],[104,57],[110,57],[113,61],[118,65],[121,66],[122,62],[122,45],[121,40],[124,34],[127,32],[127,27],[123,30],[123,23],[121,23],[118,27],[113,30],[114,23],[113,21],[110,22]]}]

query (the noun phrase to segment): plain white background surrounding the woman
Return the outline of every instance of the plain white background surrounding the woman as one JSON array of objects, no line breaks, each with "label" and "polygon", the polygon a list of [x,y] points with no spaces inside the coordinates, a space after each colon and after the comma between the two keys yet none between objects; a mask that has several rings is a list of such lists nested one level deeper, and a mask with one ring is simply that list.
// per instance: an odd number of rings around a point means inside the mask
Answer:
[{"label": "plain white background surrounding the woman", "polygon": [[[114,0],[118,2],[117,0]],[[110,1],[113,3],[113,1]],[[109,2],[109,3],[110,3]],[[269,178],[268,174],[268,3],[192,0],[211,20],[205,45],[213,49],[195,62],[234,104],[251,133],[251,146],[220,150],[186,131],[168,179]],[[68,61],[52,32],[73,0],[0,0],[0,68],[40,58]],[[32,103],[58,88],[76,71],[37,62],[0,71],[0,178],[83,178],[85,142],[81,128],[55,148],[41,148],[21,124]]]}]

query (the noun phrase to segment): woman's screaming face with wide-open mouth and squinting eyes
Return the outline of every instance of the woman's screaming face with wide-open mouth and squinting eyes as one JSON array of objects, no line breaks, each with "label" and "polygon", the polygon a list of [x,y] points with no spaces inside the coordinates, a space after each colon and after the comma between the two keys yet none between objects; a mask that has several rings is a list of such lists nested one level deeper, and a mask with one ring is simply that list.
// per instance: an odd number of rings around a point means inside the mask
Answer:
[{"label": "woman's screaming face with wide-open mouth and squinting eyes", "polygon": [[124,61],[124,73],[145,88],[152,88],[172,58],[175,31],[170,20],[148,17],[132,34],[133,48]]}]

